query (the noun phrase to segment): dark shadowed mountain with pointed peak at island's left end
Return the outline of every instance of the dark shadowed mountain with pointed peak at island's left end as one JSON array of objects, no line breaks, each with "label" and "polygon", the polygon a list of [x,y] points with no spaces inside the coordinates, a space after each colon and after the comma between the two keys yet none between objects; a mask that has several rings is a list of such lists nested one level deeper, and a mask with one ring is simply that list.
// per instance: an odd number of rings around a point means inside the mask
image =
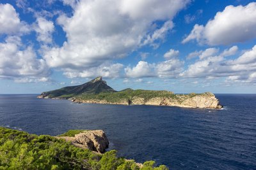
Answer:
[{"label": "dark shadowed mountain with pointed peak at island's left end", "polygon": [[114,89],[107,85],[106,81],[102,80],[101,76],[83,85],[63,87],[49,92],[42,92],[38,98],[56,98],[61,96],[61,98],[69,98],[79,94],[99,94],[100,92],[115,92]]}]

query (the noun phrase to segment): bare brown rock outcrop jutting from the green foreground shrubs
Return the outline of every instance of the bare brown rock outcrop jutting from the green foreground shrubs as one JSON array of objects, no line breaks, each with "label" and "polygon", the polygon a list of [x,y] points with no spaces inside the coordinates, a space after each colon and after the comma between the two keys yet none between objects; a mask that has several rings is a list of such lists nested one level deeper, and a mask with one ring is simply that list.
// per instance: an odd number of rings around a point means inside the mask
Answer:
[{"label": "bare brown rock outcrop jutting from the green foreground shrubs", "polygon": [[79,148],[87,148],[99,153],[104,153],[109,145],[108,138],[102,130],[84,131],[75,134],[74,137],[59,136],[56,138],[71,141],[73,145],[78,146]]}]

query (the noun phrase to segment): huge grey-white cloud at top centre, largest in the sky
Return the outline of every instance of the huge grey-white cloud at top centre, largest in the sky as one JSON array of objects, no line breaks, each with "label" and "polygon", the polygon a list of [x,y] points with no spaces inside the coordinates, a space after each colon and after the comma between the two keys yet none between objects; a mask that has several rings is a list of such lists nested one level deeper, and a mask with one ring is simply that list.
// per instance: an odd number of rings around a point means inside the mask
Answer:
[{"label": "huge grey-white cloud at top centre, largest in the sky", "polygon": [[[71,17],[61,15],[57,20],[66,32],[67,41],[63,46],[47,50],[44,59],[50,67],[86,72],[106,61],[125,57],[143,45],[157,46],[157,41],[172,29],[173,17],[189,0],[161,3],[157,0],[64,0],[63,3],[70,4],[74,10]],[[157,25],[156,21],[163,24]]]}]

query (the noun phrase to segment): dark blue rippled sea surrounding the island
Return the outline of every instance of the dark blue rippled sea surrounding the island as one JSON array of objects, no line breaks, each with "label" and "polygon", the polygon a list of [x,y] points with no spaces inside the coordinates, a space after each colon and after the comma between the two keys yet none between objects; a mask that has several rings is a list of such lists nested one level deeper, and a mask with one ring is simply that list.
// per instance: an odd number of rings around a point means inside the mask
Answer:
[{"label": "dark blue rippled sea surrounding the island", "polygon": [[0,126],[50,135],[102,129],[119,156],[170,169],[256,169],[256,95],[216,96],[223,110],[0,95]]}]

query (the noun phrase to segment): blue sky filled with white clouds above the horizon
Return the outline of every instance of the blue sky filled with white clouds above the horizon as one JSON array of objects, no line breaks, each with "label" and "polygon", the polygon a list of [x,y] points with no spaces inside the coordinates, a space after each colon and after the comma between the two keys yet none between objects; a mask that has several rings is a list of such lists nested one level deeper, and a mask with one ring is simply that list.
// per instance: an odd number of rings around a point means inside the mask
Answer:
[{"label": "blue sky filled with white clouds above the horizon", "polygon": [[0,0],[0,94],[256,93],[256,1]]}]

